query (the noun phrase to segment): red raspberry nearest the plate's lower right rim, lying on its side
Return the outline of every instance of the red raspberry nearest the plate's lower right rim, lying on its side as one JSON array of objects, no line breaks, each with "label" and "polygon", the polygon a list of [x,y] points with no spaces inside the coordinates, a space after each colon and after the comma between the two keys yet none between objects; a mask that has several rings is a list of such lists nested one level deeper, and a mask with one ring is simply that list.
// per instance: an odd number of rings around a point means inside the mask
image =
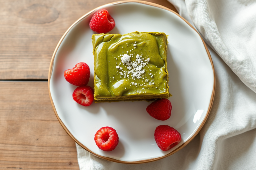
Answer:
[{"label": "red raspberry nearest the plate's lower right rim, lying on its side", "polygon": [[171,149],[181,141],[181,134],[168,125],[157,126],[154,136],[157,146],[163,151]]}]

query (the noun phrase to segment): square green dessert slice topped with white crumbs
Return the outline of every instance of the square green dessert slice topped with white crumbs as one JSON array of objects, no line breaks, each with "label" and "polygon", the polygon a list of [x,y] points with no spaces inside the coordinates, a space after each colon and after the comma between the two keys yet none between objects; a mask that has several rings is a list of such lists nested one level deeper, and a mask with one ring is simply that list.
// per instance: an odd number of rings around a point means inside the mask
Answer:
[{"label": "square green dessert slice topped with white crumbs", "polygon": [[168,98],[165,33],[94,34],[94,99]]}]

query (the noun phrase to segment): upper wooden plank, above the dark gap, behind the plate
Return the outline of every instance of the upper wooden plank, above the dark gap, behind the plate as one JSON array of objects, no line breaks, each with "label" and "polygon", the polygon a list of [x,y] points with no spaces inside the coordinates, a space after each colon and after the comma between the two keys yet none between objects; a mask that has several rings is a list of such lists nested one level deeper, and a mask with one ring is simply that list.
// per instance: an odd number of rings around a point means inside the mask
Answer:
[{"label": "upper wooden plank, above the dark gap, behind the plate", "polygon": [[[73,22],[116,0],[0,0],[0,80],[47,79],[55,47]],[[146,0],[175,10],[167,0]]]}]

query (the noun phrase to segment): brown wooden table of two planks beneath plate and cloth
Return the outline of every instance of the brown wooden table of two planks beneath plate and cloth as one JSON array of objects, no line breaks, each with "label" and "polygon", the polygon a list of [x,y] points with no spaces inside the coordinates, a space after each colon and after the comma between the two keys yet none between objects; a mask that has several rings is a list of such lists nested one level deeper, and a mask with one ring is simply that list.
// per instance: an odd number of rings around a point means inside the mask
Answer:
[{"label": "brown wooden table of two planks beneath plate and cloth", "polygon": [[114,1],[0,0],[0,169],[79,169],[49,100],[49,64],[73,22]]}]

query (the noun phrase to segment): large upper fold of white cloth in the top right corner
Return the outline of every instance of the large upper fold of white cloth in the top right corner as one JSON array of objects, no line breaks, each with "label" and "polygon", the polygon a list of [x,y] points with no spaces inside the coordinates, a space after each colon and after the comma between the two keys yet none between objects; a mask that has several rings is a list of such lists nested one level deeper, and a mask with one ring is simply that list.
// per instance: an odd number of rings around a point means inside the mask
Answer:
[{"label": "large upper fold of white cloth in the top right corner", "polygon": [[[172,2],[172,0],[169,1]],[[231,0],[227,2],[224,2],[224,0],[185,1],[190,19],[207,43],[212,45],[219,56],[222,57],[225,63],[236,73],[242,82],[256,92],[256,1],[253,3],[253,0],[251,0],[250,2],[251,7],[246,7],[248,11],[245,11],[241,9],[240,6],[236,6],[239,4],[234,4]],[[248,1],[248,3],[250,2]],[[224,3],[223,6],[229,7],[230,11],[232,11],[232,8],[236,9],[240,15],[236,14],[236,12],[226,13],[223,12],[225,10],[222,11],[222,9],[218,9],[222,7],[222,5],[219,5],[222,3]],[[252,6],[255,7],[254,10],[251,9]],[[217,9],[214,9],[214,7]],[[219,15],[221,14],[223,14],[223,16],[227,15],[227,19],[220,19],[221,17]],[[214,22],[214,16],[218,16],[220,20],[217,24]],[[236,20],[228,20],[230,16],[233,16]],[[233,27],[226,28],[225,26],[228,26],[226,22]],[[240,22],[242,24],[239,24]],[[218,29],[218,26],[221,30]],[[236,44],[232,42],[234,41],[233,36],[237,37],[235,40],[243,41],[243,43],[237,42]]]}]

